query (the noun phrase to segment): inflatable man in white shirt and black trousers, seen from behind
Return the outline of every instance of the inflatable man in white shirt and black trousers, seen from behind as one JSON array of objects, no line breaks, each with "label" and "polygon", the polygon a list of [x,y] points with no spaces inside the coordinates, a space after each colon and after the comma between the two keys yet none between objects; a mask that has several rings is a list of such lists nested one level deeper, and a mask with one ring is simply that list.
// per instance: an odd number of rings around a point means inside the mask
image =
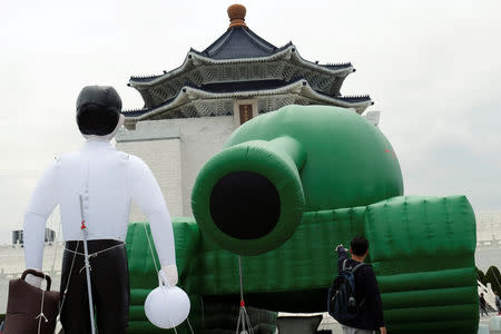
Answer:
[{"label": "inflatable man in white shirt and black trousers, seen from behind", "polygon": [[[125,333],[128,323],[129,274],[124,240],[131,200],[148,217],[161,271],[171,285],[178,279],[173,226],[157,180],[140,158],[118,151],[109,143],[124,124],[120,111],[121,99],[112,87],[88,86],[81,90],[77,124],[87,143],[49,166],[24,216],[26,266],[41,271],[46,222],[59,205],[66,242],[61,323],[67,334],[91,332],[82,269],[82,224],[99,334]],[[40,286],[35,276],[28,275],[27,281]]]}]

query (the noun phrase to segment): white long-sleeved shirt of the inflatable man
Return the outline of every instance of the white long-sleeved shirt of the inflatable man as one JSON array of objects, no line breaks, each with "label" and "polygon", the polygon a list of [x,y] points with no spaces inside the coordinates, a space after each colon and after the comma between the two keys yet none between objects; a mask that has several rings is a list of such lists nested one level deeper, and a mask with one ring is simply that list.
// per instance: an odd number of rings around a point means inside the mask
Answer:
[{"label": "white long-sleeved shirt of the inflatable man", "polygon": [[151,170],[108,141],[88,140],[56,159],[37,184],[24,216],[28,268],[42,267],[46,222],[57,205],[65,240],[82,239],[79,195],[89,240],[125,240],[134,200],[148,217],[161,266],[176,264],[170,216]]}]

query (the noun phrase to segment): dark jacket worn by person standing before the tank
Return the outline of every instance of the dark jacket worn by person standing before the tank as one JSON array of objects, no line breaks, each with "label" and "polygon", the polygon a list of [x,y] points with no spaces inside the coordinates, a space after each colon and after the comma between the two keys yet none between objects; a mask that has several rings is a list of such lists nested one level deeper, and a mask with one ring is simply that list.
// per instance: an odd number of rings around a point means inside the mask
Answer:
[{"label": "dark jacket worn by person standing before the tank", "polygon": [[[337,262],[338,272],[342,271],[343,262],[345,259],[347,259],[346,265],[350,265],[352,268],[360,263],[348,258],[344,247],[337,249],[337,255],[340,256]],[[381,303],[377,279],[374,271],[369,265],[362,266],[355,272],[355,299],[358,305],[364,301],[362,304],[362,312],[357,318],[346,322],[343,325],[369,331],[376,331],[384,326],[383,304]]]}]

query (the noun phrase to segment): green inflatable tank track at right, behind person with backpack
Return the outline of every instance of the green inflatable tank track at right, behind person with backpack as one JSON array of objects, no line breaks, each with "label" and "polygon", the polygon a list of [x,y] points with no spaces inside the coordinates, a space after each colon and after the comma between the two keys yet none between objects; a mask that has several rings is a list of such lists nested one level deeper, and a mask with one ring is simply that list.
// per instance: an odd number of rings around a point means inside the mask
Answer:
[{"label": "green inflatable tank track at right, behind person with backpack", "polygon": [[370,205],[364,229],[390,331],[475,333],[477,229],[464,196]]}]

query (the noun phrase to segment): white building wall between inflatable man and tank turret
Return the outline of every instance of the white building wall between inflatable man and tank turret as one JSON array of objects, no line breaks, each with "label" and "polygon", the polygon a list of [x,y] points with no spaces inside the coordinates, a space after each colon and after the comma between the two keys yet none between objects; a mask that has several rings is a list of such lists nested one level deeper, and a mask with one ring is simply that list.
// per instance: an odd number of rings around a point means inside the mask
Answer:
[{"label": "white building wall between inflatable man and tank turret", "polygon": [[[233,116],[140,121],[117,134],[117,149],[145,160],[156,176],[171,216],[191,216],[191,188],[204,164],[235,129]],[[132,205],[130,222],[145,220]]]}]

